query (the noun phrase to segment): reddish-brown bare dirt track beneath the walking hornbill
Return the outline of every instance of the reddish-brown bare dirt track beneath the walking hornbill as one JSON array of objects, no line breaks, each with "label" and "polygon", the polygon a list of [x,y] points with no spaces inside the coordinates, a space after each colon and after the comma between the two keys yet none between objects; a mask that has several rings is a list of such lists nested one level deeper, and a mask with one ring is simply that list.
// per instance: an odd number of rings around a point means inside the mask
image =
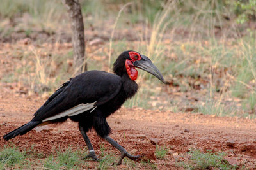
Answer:
[{"label": "reddish-brown bare dirt track beneath the walking hornbill", "polygon": [[[1,83],[0,136],[28,122],[45,101],[36,95],[26,96],[17,93],[13,87],[15,85]],[[230,164],[256,169],[256,120],[122,108],[108,118],[108,123],[113,129],[113,139],[129,152],[144,155],[157,164],[159,169],[177,169],[177,162],[189,159],[186,152],[190,149],[199,149],[201,152],[225,152],[225,158]],[[58,146],[86,147],[76,123],[68,121],[49,127],[44,131],[30,131],[8,142],[0,138],[0,146],[8,145],[10,142],[19,148],[33,146],[35,152],[43,152],[45,156]],[[95,132],[90,132],[89,138],[99,155],[100,144],[106,142]],[[160,146],[169,149],[164,159],[156,159],[156,145],[152,143],[152,138],[157,138],[155,140],[159,141]],[[105,146],[109,152],[119,154],[109,144],[106,143]],[[95,165],[92,162],[92,168]]]}]

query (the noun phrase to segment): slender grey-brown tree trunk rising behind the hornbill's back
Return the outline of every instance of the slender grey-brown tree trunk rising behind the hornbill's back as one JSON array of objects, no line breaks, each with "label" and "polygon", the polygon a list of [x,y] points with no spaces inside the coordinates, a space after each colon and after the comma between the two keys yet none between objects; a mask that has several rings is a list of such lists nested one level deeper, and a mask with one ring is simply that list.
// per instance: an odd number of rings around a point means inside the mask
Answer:
[{"label": "slender grey-brown tree trunk rising behind the hornbill's back", "polygon": [[74,68],[76,74],[87,70],[85,60],[84,23],[79,0],[63,0],[71,20]]}]

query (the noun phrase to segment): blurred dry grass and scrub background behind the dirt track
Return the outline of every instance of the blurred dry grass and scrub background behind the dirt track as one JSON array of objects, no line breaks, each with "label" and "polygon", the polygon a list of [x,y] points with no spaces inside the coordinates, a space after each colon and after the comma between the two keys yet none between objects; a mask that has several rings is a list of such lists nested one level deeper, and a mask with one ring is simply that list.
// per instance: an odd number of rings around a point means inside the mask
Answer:
[{"label": "blurred dry grass and scrub background behind the dirt track", "polygon": [[[255,118],[255,0],[80,3],[88,70],[111,71],[136,50],[168,81],[139,72],[140,92],[125,107]],[[1,1],[1,84],[49,97],[75,74],[71,36],[61,1]]]}]

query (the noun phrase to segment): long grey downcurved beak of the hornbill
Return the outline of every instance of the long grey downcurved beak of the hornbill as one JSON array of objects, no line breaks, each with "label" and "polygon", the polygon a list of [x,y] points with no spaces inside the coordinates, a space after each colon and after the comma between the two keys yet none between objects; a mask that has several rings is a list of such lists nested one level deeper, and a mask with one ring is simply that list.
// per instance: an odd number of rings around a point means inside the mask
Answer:
[{"label": "long grey downcurved beak of the hornbill", "polygon": [[162,74],[160,73],[160,71],[157,69],[156,66],[154,66],[152,61],[150,59],[148,59],[148,57],[146,57],[145,55],[141,55],[141,60],[136,60],[133,63],[133,65],[135,67],[143,69],[144,71],[147,71],[148,73],[156,76],[156,78],[158,78],[163,83],[165,83],[164,78],[163,78]]}]

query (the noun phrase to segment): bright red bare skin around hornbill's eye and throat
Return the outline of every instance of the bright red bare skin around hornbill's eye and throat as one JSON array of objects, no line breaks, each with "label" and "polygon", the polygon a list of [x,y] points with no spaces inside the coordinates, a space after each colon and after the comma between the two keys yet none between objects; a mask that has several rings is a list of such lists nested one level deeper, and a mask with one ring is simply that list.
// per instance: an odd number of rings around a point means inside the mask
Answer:
[{"label": "bright red bare skin around hornbill's eye and throat", "polygon": [[125,60],[125,68],[126,68],[129,78],[131,78],[131,80],[135,81],[138,76],[138,71],[133,66],[133,62],[135,62],[136,60],[140,60],[141,56],[137,52],[129,52],[129,55],[130,55],[131,60]]}]

